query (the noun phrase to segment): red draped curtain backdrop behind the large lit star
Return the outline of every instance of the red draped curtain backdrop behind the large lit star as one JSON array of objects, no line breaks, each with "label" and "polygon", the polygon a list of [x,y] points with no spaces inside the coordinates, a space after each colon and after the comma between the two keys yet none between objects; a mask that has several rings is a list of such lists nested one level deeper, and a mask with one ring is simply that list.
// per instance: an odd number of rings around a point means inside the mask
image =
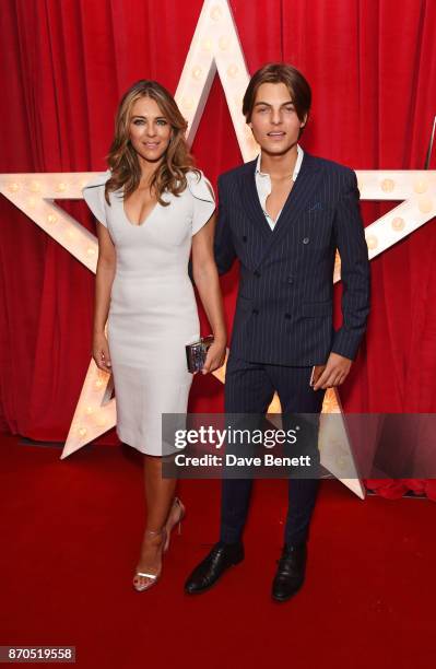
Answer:
[{"label": "red draped curtain backdrop behind the large lit star", "polygon": [[[436,113],[433,0],[232,0],[250,73],[298,67],[313,85],[303,145],[361,169],[423,168]],[[135,80],[177,83],[202,0],[2,0],[0,172],[106,168],[114,115]],[[215,183],[241,162],[219,79],[193,153]],[[432,167],[436,167],[435,156]],[[83,202],[62,203],[93,230]],[[393,203],[392,203],[393,206]],[[363,204],[366,223],[389,204]],[[94,278],[0,198],[1,423],[63,441],[90,362]],[[436,227],[372,261],[366,339],[341,398],[346,411],[436,411]],[[231,326],[237,268],[223,281]],[[223,389],[196,378],[191,409],[221,411]],[[114,431],[101,442],[114,441]],[[432,481],[368,482],[436,498]]]}]

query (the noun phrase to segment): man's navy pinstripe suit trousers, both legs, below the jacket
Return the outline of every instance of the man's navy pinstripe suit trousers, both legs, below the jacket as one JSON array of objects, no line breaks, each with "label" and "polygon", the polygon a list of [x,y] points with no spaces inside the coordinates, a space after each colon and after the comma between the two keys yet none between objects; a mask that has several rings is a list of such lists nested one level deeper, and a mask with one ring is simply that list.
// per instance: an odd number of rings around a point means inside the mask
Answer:
[{"label": "man's navy pinstripe suit trousers, both legs, below the jacket", "polygon": [[[276,390],[282,413],[319,413],[325,390],[309,386],[310,367],[249,363],[232,355],[225,376],[225,411],[264,414]],[[318,479],[290,479],[284,540],[305,541],[318,492]],[[252,488],[251,479],[224,479],[221,502],[221,541],[241,539]]]}]

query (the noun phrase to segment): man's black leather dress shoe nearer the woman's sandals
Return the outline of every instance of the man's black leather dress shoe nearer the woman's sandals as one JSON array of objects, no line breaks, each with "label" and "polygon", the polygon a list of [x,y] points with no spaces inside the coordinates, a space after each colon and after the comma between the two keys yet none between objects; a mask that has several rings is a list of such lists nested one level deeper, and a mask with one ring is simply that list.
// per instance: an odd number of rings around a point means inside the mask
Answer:
[{"label": "man's black leather dress shoe nearer the woman's sandals", "polygon": [[241,543],[215,543],[209,555],[193,570],[185,584],[185,592],[197,595],[211,588],[228,567],[244,560]]}]

